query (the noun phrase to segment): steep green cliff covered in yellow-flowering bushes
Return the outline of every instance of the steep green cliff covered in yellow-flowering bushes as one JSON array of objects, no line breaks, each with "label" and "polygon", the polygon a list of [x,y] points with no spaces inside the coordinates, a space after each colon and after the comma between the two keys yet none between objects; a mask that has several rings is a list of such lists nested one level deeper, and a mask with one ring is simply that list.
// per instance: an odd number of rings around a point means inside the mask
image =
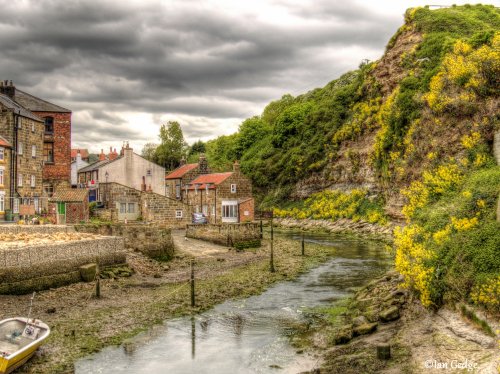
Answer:
[{"label": "steep green cliff covered in yellow-flowering bushes", "polygon": [[424,305],[499,313],[498,30],[493,6],[409,9],[380,60],[271,102],[209,161],[240,159],[284,216],[405,220],[396,267]]}]

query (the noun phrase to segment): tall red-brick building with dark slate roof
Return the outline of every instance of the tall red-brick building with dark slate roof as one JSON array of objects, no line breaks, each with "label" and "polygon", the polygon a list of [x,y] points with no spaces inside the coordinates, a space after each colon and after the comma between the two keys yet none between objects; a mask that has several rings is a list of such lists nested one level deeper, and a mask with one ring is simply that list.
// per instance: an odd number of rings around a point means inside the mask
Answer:
[{"label": "tall red-brick building with dark slate roof", "polygon": [[71,110],[50,103],[10,85],[0,86],[0,92],[29,110],[44,122],[43,191],[51,196],[57,188],[70,187],[71,179]]}]

